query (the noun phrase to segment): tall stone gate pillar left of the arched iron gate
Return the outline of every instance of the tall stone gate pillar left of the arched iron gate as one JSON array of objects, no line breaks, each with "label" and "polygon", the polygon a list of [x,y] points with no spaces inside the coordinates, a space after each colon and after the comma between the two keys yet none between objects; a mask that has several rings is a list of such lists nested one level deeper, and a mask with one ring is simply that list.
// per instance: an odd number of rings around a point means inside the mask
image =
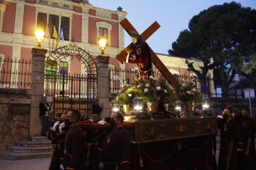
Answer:
[{"label": "tall stone gate pillar left of the arched iron gate", "polygon": [[39,119],[39,103],[44,91],[45,81],[45,54],[46,49],[34,47],[32,49],[32,86],[31,109],[30,109],[30,137],[39,136],[41,123]]}]

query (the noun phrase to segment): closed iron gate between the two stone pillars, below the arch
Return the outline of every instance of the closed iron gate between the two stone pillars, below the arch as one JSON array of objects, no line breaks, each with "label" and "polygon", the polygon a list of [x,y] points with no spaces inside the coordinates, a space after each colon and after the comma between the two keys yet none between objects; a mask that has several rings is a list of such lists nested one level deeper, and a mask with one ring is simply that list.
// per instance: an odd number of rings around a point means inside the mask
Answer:
[{"label": "closed iron gate between the two stone pillars, below the arch", "polygon": [[82,116],[90,116],[96,85],[97,75],[45,73],[45,95],[53,97],[53,113],[67,113],[70,108],[77,108]]}]

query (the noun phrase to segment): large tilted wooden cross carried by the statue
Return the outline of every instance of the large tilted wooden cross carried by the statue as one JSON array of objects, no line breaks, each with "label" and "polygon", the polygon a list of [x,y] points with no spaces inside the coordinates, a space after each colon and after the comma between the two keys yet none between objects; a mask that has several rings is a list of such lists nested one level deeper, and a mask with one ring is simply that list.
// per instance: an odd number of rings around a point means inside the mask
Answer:
[{"label": "large tilted wooden cross carried by the statue", "polygon": [[[121,20],[120,24],[130,36],[132,35],[132,33],[138,34],[134,26],[132,26],[132,24],[127,20],[127,18],[124,18],[123,20]],[[158,28],[160,28],[160,25],[158,24],[158,22],[154,22],[153,24],[151,24],[147,28],[147,30],[143,31],[143,33],[140,34],[140,36],[142,36],[142,41],[145,42],[151,36],[151,34],[155,33],[155,31],[158,30]],[[129,44],[129,46],[126,47],[126,49],[131,49],[131,46],[132,46],[132,42]],[[157,57],[155,52],[153,52],[153,50],[149,46],[148,48],[150,49],[151,59],[155,67],[160,71],[160,73],[164,76],[164,78],[167,79],[167,81],[171,85],[177,86],[179,83],[176,80],[176,78],[174,78],[174,76],[170,73],[168,68],[166,68],[163,62]],[[127,56],[126,49],[124,49],[123,51],[121,51],[119,54],[116,55],[116,59],[119,60],[119,62],[121,63],[126,61],[126,56]]]}]

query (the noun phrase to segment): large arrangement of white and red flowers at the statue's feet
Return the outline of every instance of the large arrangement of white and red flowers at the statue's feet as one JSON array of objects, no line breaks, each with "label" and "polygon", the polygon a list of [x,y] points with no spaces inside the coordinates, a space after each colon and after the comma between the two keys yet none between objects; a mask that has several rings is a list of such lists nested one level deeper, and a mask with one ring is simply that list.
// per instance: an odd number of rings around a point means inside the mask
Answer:
[{"label": "large arrangement of white and red flowers at the statue's feet", "polygon": [[[139,76],[133,84],[127,84],[121,79],[121,89],[115,100],[120,107],[132,105],[134,97],[142,97],[143,103],[147,103],[148,111],[156,112],[158,103],[174,102],[173,88],[163,76]],[[124,109],[126,112],[126,109]]]}]

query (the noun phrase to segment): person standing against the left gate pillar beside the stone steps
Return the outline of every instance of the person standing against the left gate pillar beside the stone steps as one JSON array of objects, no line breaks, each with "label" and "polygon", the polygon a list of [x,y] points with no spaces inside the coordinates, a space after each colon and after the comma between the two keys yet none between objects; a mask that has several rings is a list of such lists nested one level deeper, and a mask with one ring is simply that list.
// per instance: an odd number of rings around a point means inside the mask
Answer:
[{"label": "person standing against the left gate pillar beside the stone steps", "polygon": [[51,110],[51,107],[49,107],[48,103],[45,103],[43,99],[39,103],[39,109],[40,109],[40,121],[41,121],[41,136],[47,136],[46,132],[49,132],[49,110]]}]

